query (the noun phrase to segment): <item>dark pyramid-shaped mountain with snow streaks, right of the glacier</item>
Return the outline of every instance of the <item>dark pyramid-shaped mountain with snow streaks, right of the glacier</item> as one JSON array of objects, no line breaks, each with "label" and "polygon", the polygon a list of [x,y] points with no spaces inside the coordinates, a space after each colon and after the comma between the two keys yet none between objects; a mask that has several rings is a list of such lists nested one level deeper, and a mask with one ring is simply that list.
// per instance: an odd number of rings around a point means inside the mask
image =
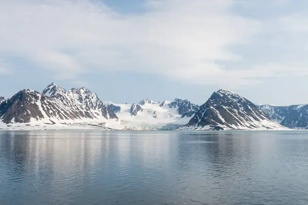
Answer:
[{"label": "dark pyramid-shaped mountain with snow streaks, right of the glacier", "polygon": [[225,89],[214,92],[188,124],[180,129],[266,130],[285,129],[246,98]]}]

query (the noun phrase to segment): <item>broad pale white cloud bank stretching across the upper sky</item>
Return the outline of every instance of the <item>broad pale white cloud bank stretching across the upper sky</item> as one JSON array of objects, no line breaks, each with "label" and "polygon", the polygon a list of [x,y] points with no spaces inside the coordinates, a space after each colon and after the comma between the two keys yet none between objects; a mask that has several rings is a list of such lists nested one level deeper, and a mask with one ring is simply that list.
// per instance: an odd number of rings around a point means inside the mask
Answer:
[{"label": "broad pale white cloud bank stretching across the upper sky", "polygon": [[0,52],[74,82],[86,72],[125,70],[237,87],[290,72],[235,51],[269,28],[234,12],[237,4],[147,0],[144,13],[124,15],[95,0],[1,1]]}]

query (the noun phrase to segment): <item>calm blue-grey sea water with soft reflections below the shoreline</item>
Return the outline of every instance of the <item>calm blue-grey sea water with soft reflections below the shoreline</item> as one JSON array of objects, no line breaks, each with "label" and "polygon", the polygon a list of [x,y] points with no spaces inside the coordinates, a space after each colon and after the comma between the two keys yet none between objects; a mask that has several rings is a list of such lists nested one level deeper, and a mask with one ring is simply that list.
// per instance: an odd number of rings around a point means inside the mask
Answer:
[{"label": "calm blue-grey sea water with soft reflections below the shoreline", "polygon": [[0,204],[308,204],[308,132],[1,132]]}]

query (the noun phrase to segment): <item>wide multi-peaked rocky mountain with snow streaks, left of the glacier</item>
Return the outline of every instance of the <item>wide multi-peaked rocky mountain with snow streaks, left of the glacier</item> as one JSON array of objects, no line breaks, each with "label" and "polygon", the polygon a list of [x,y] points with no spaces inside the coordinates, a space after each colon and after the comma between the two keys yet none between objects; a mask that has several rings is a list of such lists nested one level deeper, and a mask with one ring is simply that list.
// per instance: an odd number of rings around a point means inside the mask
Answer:
[{"label": "wide multi-peaked rocky mountain with snow streaks, left of the glacier", "polygon": [[66,91],[52,83],[42,94],[26,89],[5,100],[0,104],[0,119],[10,127],[14,123],[105,127],[118,117],[95,93],[85,88]]}]

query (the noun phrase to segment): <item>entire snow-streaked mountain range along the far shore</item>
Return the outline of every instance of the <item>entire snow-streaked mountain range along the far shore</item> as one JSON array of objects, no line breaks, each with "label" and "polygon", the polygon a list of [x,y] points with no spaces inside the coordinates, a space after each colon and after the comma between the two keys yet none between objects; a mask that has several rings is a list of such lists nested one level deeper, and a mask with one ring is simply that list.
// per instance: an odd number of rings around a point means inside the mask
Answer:
[{"label": "entire snow-streaked mountain range along the far shore", "polygon": [[308,105],[255,105],[228,90],[201,106],[187,99],[143,99],[135,104],[102,101],[86,88],[48,85],[42,93],[22,90],[0,97],[0,129],[101,130],[285,130],[308,128]]}]

